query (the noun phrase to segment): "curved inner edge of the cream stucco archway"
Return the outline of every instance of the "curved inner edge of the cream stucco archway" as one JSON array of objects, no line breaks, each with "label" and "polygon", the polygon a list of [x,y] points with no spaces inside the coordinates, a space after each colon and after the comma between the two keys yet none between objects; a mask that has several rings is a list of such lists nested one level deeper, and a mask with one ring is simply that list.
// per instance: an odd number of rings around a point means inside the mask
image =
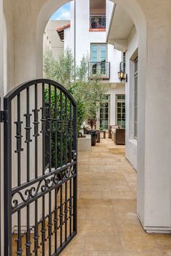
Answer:
[{"label": "curved inner edge of the cream stucco archway", "polygon": [[[143,198],[141,193],[143,191],[143,174],[144,174],[144,157],[145,157],[145,102],[146,102],[146,17],[143,13],[143,10],[138,5],[138,1],[129,1],[129,0],[112,0],[114,3],[120,5],[124,12],[127,12],[128,15],[133,20],[135,28],[138,33],[138,57],[139,57],[139,68],[141,73],[139,75],[139,116],[141,120],[138,122],[138,215],[143,216]],[[38,74],[41,75],[43,70],[43,31],[46,27],[51,15],[63,4],[66,0],[57,1],[46,1],[46,4],[43,5],[40,12],[38,13],[37,22],[36,22],[36,49],[37,49],[37,67],[39,67]]]}]

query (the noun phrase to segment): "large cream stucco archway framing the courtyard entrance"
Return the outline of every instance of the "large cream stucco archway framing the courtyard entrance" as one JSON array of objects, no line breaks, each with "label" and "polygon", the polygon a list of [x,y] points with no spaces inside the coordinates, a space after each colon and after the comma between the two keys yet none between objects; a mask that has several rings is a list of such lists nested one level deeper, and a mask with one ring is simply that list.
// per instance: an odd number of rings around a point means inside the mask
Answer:
[{"label": "large cream stucco archway framing the courtyard entrance", "polygon": [[[171,230],[171,5],[170,1],[159,0],[115,2],[132,17],[139,33],[139,215],[144,217],[144,226]],[[42,76],[43,30],[51,14],[64,3],[65,0],[4,1],[9,85]]]}]

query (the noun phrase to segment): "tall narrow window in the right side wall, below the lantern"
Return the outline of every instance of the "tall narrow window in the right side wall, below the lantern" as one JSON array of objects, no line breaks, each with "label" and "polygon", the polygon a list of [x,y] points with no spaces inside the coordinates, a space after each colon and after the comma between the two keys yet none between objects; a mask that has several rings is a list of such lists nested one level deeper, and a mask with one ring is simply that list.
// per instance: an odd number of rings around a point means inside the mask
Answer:
[{"label": "tall narrow window in the right side wall, below the lantern", "polygon": [[138,58],[135,59],[134,72],[134,137],[138,137]]}]

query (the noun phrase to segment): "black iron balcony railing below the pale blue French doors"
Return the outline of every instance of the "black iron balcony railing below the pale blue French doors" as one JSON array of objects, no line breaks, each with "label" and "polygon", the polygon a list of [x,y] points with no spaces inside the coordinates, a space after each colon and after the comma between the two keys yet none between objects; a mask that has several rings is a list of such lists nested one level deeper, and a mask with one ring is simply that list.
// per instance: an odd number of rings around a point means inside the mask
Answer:
[{"label": "black iron balcony railing below the pale blue French doors", "polygon": [[110,62],[89,62],[89,78],[110,79]]}]

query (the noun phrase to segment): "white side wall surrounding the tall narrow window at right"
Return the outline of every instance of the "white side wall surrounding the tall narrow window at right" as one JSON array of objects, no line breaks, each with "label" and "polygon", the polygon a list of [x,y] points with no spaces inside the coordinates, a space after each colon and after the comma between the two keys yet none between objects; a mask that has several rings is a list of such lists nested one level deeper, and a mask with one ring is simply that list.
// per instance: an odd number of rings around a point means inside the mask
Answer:
[{"label": "white side wall surrounding the tall narrow window at right", "polygon": [[126,91],[126,157],[137,170],[137,140],[134,139],[134,54],[138,49],[138,35],[133,28],[128,38],[128,51],[126,52],[126,73],[128,83]]}]

